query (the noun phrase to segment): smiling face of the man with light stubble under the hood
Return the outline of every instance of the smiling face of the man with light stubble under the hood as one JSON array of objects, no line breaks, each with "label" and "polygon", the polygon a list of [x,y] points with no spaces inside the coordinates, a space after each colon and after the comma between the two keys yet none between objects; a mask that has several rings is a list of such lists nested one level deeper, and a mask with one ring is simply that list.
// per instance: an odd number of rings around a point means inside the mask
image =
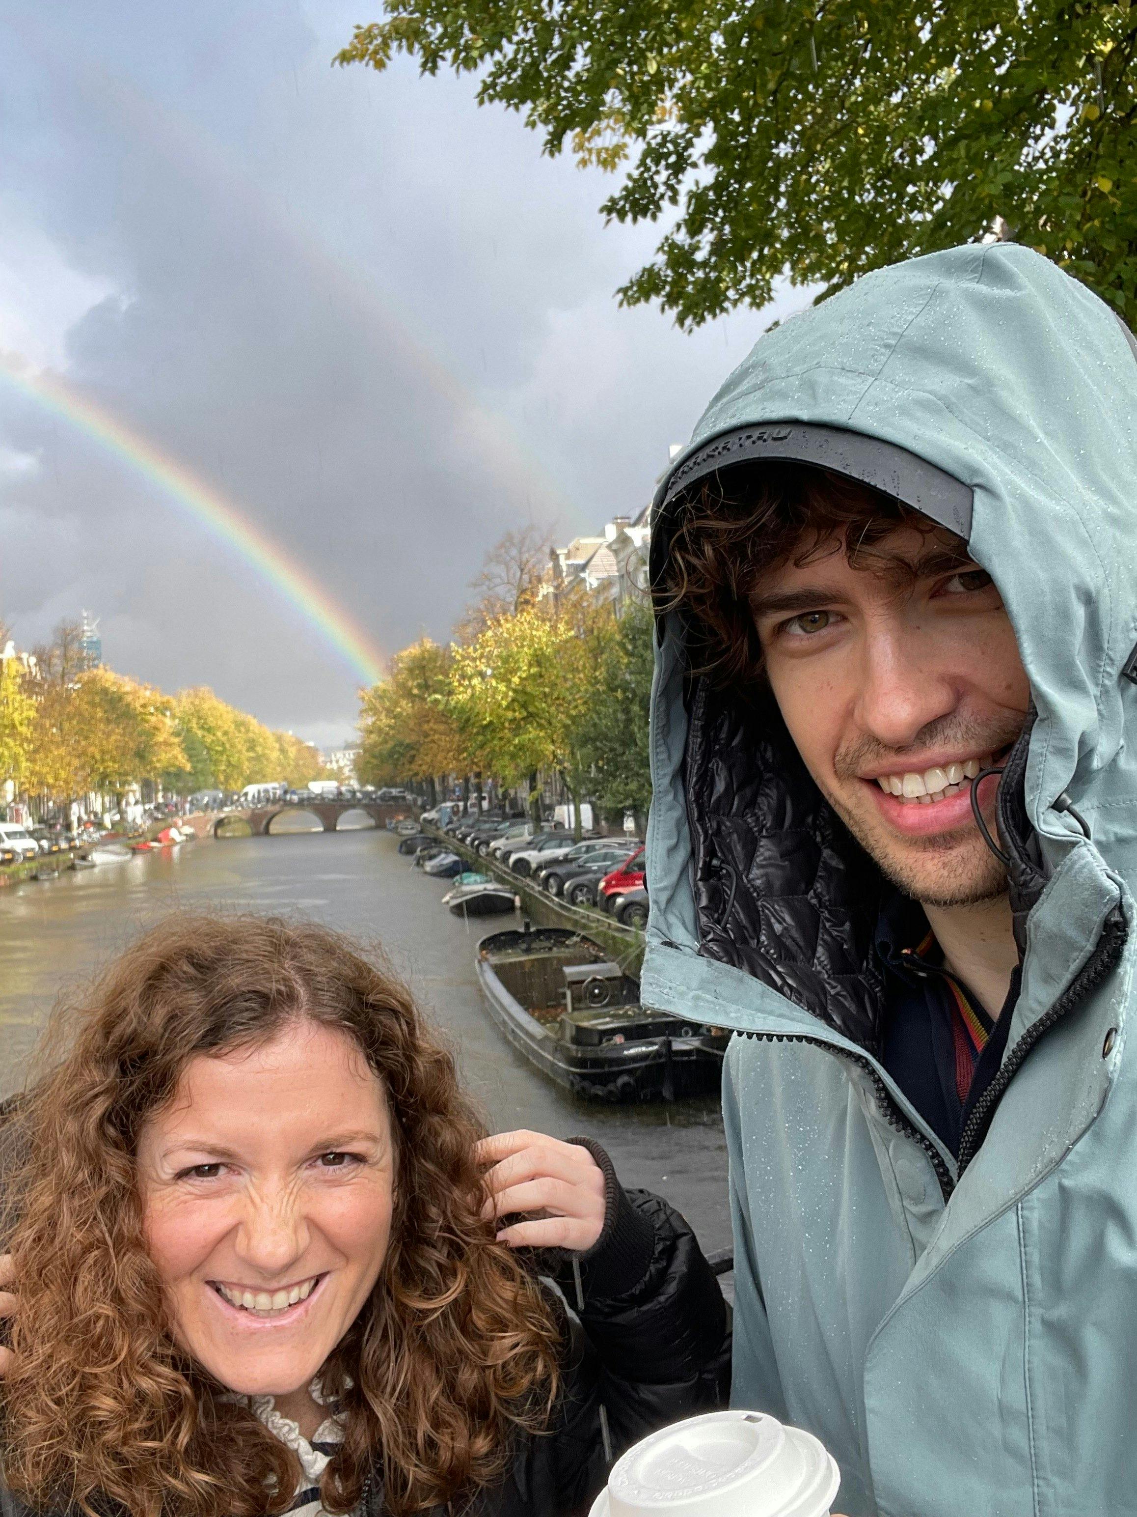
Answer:
[{"label": "smiling face of the man with light stubble under the hood", "polygon": [[[750,604],[790,736],[881,871],[928,906],[999,895],[970,777],[1005,758],[1029,684],[990,576],[897,526],[855,569],[837,540],[770,569]],[[979,792],[991,836],[994,792]]]}]

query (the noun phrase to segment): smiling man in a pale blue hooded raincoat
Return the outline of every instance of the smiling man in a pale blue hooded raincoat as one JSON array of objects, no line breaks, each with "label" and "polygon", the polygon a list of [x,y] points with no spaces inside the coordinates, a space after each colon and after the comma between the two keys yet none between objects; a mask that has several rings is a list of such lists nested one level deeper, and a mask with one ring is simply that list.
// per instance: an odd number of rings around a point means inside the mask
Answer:
[{"label": "smiling man in a pale blue hooded raincoat", "polygon": [[850,1517],[1137,1512],[1135,394],[958,247],[767,334],[656,499],[643,1000],[738,1033],[732,1400]]}]

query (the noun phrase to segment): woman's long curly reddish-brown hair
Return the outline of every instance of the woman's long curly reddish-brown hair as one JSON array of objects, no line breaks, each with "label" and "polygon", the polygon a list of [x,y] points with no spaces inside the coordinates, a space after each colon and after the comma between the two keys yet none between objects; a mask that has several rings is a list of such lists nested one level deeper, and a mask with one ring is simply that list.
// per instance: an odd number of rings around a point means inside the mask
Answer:
[{"label": "woman's long curly reddish-brown hair", "polygon": [[138,1517],[288,1506],[296,1455],[170,1332],[135,1148],[193,1057],[256,1045],[296,1018],[358,1044],[396,1136],[390,1248],[321,1371],[344,1415],[321,1499],[352,1509],[377,1461],[396,1514],[493,1482],[515,1434],[547,1423],[561,1330],[535,1277],[481,1218],[484,1129],[409,992],[317,924],[174,915],[64,1015],[70,1051],[14,1118],[9,1487],[41,1509],[96,1512],[111,1500]]}]

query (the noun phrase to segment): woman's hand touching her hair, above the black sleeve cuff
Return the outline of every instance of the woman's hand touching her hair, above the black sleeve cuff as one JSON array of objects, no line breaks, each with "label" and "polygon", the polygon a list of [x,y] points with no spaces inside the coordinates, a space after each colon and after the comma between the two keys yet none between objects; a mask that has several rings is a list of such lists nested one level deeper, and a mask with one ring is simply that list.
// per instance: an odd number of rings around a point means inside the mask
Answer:
[{"label": "woman's hand touching her hair, above the black sleeve cuff", "polygon": [[603,1232],[603,1171],[587,1148],[522,1129],[478,1145],[488,1200],[482,1217],[535,1212],[497,1233],[511,1248],[584,1253]]}]

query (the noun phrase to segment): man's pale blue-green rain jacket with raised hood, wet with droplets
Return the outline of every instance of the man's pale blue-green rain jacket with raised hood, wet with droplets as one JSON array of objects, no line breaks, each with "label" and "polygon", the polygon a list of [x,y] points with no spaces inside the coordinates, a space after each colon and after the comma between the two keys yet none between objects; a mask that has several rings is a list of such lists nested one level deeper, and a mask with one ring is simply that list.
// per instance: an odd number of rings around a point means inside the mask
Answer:
[{"label": "man's pale blue-green rain jacket with raised hood, wet with droplets", "polygon": [[[1137,1512],[1131,343],[1026,249],[920,258],[763,337],[670,475],[708,440],[726,440],[726,467],[740,435],[744,454],[747,437],[776,441],[793,432],[776,423],[793,422],[894,444],[917,476],[932,466],[970,490],[970,552],[1002,592],[1037,707],[1017,749],[1022,994],[985,1136],[958,1173],[841,1001],[867,986],[869,1004],[873,988],[852,959],[826,962],[840,912],[811,895],[816,941],[788,950],[776,910],[761,915],[764,894],[787,889],[785,848],[761,842],[782,825],[776,772],[735,786],[732,821],[714,824],[720,865],[737,866],[725,907],[725,886],[700,875],[700,818],[729,789],[723,751],[744,760],[763,734],[716,728],[688,752],[700,696],[684,686],[678,617],[662,623],[643,1000],[752,1035],[732,1039],[723,1088],[734,1402],[817,1434],[850,1517]],[[658,575],[659,508],[656,539]],[[1014,831],[1011,768],[1001,831]],[[734,822],[750,828],[743,857]],[[825,825],[820,815],[817,880],[840,877]],[[767,939],[752,953],[731,927],[740,900]],[[716,901],[726,925],[708,925]],[[819,1001],[826,983],[832,1003]]]}]

